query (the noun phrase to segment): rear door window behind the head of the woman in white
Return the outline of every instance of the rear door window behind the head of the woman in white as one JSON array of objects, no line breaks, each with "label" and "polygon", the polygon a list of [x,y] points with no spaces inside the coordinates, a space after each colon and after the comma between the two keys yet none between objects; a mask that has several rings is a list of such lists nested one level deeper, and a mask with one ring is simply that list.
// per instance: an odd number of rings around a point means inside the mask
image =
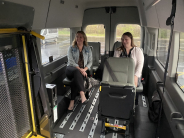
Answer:
[{"label": "rear door window behind the head of the woman in white", "polygon": [[141,45],[141,27],[136,24],[118,24],[116,27],[115,41],[121,42],[121,36],[125,32],[130,32],[134,38],[134,44],[138,47]]}]

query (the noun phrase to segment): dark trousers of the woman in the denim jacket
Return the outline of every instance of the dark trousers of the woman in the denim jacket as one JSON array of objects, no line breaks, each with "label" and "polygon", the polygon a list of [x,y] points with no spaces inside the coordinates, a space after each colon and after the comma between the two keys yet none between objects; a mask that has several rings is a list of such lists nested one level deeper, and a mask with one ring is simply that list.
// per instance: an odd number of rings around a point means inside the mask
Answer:
[{"label": "dark trousers of the woman in the denim jacket", "polygon": [[66,76],[71,83],[71,100],[75,100],[75,97],[79,94],[80,91],[85,91],[84,89],[84,76],[76,67],[67,66]]}]

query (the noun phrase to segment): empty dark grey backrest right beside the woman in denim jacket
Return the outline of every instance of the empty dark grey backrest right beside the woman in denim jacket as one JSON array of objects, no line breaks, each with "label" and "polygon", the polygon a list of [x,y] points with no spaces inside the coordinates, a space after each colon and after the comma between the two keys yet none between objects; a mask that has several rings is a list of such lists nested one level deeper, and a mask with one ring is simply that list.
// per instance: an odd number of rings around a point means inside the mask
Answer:
[{"label": "empty dark grey backrest right beside the woman in denim jacket", "polygon": [[100,59],[100,42],[88,42],[89,46],[93,47],[93,66],[99,66],[99,59]]}]

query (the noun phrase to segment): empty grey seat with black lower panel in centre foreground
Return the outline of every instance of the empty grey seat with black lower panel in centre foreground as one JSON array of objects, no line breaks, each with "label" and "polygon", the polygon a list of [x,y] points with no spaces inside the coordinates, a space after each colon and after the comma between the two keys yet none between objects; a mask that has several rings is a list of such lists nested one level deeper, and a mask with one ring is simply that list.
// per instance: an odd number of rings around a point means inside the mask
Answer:
[{"label": "empty grey seat with black lower panel in centre foreground", "polygon": [[118,82],[113,81],[108,69],[104,66],[99,99],[99,115],[114,118],[130,119],[134,107],[134,60],[132,58],[107,59]]}]

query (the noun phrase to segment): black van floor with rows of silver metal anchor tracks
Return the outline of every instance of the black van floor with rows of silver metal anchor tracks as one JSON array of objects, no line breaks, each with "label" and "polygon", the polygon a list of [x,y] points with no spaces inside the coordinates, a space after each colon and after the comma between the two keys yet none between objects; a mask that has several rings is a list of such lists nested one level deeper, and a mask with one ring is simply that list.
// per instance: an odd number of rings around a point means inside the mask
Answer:
[{"label": "black van floor with rows of silver metal anchor tracks", "polygon": [[[71,114],[69,119],[67,120],[66,124],[64,124],[64,127],[61,128],[61,124],[64,120],[66,120],[67,113],[63,115],[63,117],[58,121],[58,123],[55,125],[53,132],[57,134],[62,134],[63,136],[61,138],[100,138],[101,137],[101,121],[98,120],[97,125],[94,126],[94,120],[97,115],[97,109],[98,109],[98,88],[96,87],[92,95],[89,99],[89,102],[83,109],[82,104],[79,102],[76,106],[74,112]],[[94,99],[95,97],[96,102],[95,104]],[[88,116],[88,121],[85,123],[85,129],[84,131],[80,131],[82,128],[82,125],[84,124],[84,120],[87,117],[87,114],[89,114],[89,110],[91,109],[92,105],[94,104],[93,110]],[[149,121],[147,112],[148,112],[148,100],[145,96],[139,95],[138,105],[135,109],[135,117],[134,117],[134,123],[130,124],[130,138],[152,138],[155,133],[155,125]],[[77,118],[78,113],[83,109],[83,112],[81,115],[78,116],[78,120],[76,121],[76,125],[72,126],[72,123]],[[110,123],[114,124],[115,120],[110,119]],[[120,125],[123,124],[123,121],[119,121]],[[72,130],[71,130],[72,126]],[[93,130],[92,130],[93,129]],[[90,132],[94,133],[90,133]],[[93,134],[90,136],[90,134]],[[113,136],[114,135],[114,136]],[[59,138],[59,137],[58,137]],[[105,138],[123,138],[122,135],[115,135],[113,133],[107,134]]]}]

